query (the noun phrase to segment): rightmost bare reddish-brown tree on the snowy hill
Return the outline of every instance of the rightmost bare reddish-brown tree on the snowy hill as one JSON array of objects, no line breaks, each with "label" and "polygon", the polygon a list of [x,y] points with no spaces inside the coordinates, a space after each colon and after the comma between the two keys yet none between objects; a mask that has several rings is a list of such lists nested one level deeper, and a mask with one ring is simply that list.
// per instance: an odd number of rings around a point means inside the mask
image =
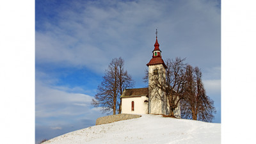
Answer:
[{"label": "rightmost bare reddish-brown tree on the snowy hill", "polygon": [[202,83],[202,72],[198,67],[186,67],[186,84],[184,84],[184,99],[181,100],[181,116],[193,120],[211,122],[216,113],[214,102],[205,94]]}]

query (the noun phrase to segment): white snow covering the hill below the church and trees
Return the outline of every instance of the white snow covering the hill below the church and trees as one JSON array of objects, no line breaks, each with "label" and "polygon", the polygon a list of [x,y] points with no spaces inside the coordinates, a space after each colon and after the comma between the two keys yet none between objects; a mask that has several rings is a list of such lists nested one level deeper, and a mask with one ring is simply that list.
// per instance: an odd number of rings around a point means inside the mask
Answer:
[{"label": "white snow covering the hill below the church and trees", "polygon": [[142,115],[63,134],[46,143],[221,143],[221,124]]}]

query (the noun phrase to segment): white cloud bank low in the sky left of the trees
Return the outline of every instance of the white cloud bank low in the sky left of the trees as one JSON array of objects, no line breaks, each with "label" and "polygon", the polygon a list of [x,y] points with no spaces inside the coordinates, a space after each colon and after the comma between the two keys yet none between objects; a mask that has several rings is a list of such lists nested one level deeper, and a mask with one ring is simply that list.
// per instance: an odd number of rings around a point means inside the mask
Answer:
[{"label": "white cloud bank low in the sky left of the trees", "polygon": [[93,97],[90,95],[54,89],[37,79],[35,86],[35,116],[38,124],[68,124],[86,117],[95,121],[97,117],[102,116],[101,111],[93,110]]}]

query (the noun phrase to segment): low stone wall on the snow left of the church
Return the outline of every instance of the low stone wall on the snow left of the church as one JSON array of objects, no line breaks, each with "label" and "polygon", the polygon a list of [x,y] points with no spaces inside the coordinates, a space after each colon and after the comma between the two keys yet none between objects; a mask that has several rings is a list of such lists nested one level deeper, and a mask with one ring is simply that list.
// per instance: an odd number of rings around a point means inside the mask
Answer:
[{"label": "low stone wall on the snow left of the church", "polygon": [[100,118],[97,118],[96,120],[96,125],[101,125],[101,124],[109,124],[111,122],[117,122],[120,120],[129,120],[132,118],[140,118],[141,115],[131,115],[131,114],[118,114],[118,115],[109,115],[109,116],[103,116]]}]

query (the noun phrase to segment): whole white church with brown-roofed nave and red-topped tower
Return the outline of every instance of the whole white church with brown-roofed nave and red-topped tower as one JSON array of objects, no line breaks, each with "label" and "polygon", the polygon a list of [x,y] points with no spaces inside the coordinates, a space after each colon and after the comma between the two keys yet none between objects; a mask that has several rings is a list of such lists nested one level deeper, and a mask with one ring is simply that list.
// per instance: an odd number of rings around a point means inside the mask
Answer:
[{"label": "whole white church with brown-roofed nave and red-topped tower", "polygon": [[[157,74],[157,70],[161,68],[163,70],[167,68],[161,56],[162,51],[159,49],[157,36],[154,47],[152,59],[147,63],[149,87],[150,76]],[[162,96],[165,97],[164,92],[161,92],[161,90],[158,93],[162,93]],[[148,90],[148,88],[125,89],[120,97],[122,100],[122,113],[169,115],[170,108],[168,107],[168,102],[156,99],[154,95],[156,95],[156,92],[154,90]],[[180,106],[173,113],[177,118],[180,118]]]}]

